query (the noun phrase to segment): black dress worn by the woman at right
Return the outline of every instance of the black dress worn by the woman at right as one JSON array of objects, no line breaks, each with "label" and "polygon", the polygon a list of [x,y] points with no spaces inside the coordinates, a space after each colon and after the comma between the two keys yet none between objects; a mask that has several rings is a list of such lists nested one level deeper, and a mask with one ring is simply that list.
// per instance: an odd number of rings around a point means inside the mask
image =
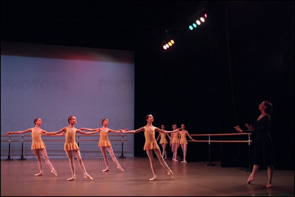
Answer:
[{"label": "black dress worn by the woman at right", "polygon": [[269,166],[274,165],[274,150],[271,137],[269,135],[270,116],[265,115],[256,121],[253,129],[256,134],[254,142],[253,164]]}]

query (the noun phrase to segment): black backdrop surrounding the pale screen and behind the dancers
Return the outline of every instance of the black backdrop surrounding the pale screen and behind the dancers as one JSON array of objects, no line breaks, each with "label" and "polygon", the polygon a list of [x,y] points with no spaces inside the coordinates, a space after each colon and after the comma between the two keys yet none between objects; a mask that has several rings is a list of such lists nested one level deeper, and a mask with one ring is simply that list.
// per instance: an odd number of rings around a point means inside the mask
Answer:
[{"label": "black backdrop surrounding the pale screen and behind the dancers", "polygon": [[[206,23],[190,31],[203,11]],[[164,51],[167,38],[176,44]],[[275,169],[294,170],[293,1],[2,0],[1,40],[134,51],[135,129],[152,114],[168,131],[236,133],[268,100]],[[136,157],[147,157],[144,140],[135,134]],[[224,167],[248,166],[246,143],[211,143],[210,153]],[[187,160],[208,161],[208,144],[190,142]]]}]

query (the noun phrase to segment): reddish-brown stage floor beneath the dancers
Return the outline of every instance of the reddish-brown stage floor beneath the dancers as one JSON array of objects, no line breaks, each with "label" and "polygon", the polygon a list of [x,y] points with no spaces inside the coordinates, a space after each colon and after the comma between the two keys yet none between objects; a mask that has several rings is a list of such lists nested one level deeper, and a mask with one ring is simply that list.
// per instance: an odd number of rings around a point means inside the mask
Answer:
[{"label": "reddish-brown stage floor beneath the dancers", "polygon": [[148,158],[125,158],[118,161],[121,172],[109,157],[110,171],[103,158],[83,159],[93,181],[85,179],[75,160],[75,181],[67,159],[51,159],[58,176],[55,177],[44,160],[44,176],[36,160],[1,160],[1,196],[294,196],[294,171],[274,169],[272,188],[266,188],[267,171],[259,170],[255,181],[246,184],[249,172],[240,167],[206,166],[207,162],[186,164],[165,160],[174,172],[175,180],[167,175],[157,158],[157,181],[153,177]]}]

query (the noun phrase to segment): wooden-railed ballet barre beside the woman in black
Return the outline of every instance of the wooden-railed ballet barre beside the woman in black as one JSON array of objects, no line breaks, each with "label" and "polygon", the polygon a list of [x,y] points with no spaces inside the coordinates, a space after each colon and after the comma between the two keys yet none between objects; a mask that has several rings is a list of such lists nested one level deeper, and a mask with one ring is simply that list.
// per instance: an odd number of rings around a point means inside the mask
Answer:
[{"label": "wooden-railed ballet barre beside the woman in black", "polygon": [[[210,143],[211,142],[236,142],[236,143],[248,143],[249,149],[249,168],[244,170],[245,172],[251,172],[251,158],[250,158],[250,144],[252,140],[250,139],[250,135],[252,133],[222,133],[222,134],[190,134],[191,136],[208,136],[208,140],[187,140],[189,142],[208,142],[209,145],[209,164],[205,164],[208,166],[214,166],[215,164],[211,163],[211,151],[210,151]],[[227,136],[227,135],[248,135],[248,140],[211,140],[211,136]]]}]

